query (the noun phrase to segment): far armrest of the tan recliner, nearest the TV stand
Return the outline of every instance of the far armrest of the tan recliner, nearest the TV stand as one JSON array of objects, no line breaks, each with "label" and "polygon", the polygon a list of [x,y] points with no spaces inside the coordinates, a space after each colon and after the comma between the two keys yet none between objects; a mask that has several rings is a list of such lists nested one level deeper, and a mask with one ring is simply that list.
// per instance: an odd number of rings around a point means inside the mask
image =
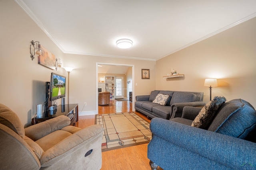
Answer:
[{"label": "far armrest of the tan recliner, nearest the TV stand", "polygon": [[70,119],[65,115],[60,115],[25,128],[25,135],[33,141],[37,141],[38,139],[68,125],[70,125]]}]

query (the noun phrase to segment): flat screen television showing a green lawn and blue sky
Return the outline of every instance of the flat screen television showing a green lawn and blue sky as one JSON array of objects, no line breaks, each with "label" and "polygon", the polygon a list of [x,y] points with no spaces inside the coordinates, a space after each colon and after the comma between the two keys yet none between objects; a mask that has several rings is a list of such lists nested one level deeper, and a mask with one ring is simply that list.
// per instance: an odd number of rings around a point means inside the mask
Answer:
[{"label": "flat screen television showing a green lawn and blue sky", "polygon": [[64,98],[66,91],[66,77],[52,72],[50,81],[50,101]]}]

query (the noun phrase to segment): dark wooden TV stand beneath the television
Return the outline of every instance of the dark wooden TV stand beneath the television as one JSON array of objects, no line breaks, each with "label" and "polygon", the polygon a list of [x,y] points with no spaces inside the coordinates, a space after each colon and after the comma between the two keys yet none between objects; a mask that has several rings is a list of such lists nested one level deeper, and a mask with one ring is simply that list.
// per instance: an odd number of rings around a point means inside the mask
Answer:
[{"label": "dark wooden TV stand beneath the television", "polygon": [[46,121],[48,119],[52,119],[54,117],[60,116],[60,115],[66,115],[71,118],[70,125],[74,126],[76,125],[76,122],[78,121],[78,104],[65,104],[65,105],[59,105],[57,107],[56,113],[53,115],[50,115],[49,113],[43,113],[43,117],[34,117],[31,121],[32,125],[36,123],[40,123],[42,121]]}]

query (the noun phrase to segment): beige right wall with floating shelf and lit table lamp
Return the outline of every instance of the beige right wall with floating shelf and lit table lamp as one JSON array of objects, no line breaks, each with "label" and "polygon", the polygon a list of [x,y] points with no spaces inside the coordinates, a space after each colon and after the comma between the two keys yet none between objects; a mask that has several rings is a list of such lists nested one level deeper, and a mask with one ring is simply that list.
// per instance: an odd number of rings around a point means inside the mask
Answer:
[{"label": "beige right wall with floating shelf and lit table lamp", "polygon": [[[256,18],[200,41],[156,62],[156,89],[204,92],[205,78],[217,78],[212,97],[242,98],[256,107]],[[174,68],[184,78],[164,79]]]}]

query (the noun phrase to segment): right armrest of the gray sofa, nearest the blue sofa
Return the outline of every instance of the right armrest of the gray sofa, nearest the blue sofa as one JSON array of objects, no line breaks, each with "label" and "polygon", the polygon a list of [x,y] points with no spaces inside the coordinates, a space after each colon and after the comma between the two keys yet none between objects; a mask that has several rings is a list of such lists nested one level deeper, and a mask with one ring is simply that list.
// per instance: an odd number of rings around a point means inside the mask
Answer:
[{"label": "right armrest of the gray sofa, nearest the blue sofa", "polygon": [[182,110],[185,106],[204,106],[204,102],[186,102],[186,103],[174,103],[171,106],[172,115],[170,115],[170,119],[174,117],[181,117]]}]

